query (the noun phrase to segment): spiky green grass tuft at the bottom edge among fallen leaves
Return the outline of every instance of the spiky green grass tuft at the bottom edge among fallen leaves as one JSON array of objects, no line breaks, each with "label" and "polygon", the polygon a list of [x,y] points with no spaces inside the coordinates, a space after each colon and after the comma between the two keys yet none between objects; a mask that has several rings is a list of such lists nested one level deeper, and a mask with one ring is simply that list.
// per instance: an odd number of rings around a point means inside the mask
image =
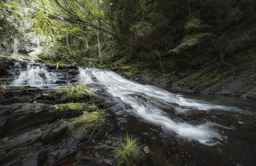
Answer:
[{"label": "spiky green grass tuft at the bottom edge among fallen leaves", "polygon": [[139,158],[144,159],[145,155],[139,151],[139,141],[138,138],[133,139],[128,137],[126,134],[125,144],[121,143],[121,149],[116,147],[111,147],[112,152],[118,153],[117,157],[120,156],[120,160],[117,162],[117,166],[127,165],[133,163],[133,160],[138,160]]}]

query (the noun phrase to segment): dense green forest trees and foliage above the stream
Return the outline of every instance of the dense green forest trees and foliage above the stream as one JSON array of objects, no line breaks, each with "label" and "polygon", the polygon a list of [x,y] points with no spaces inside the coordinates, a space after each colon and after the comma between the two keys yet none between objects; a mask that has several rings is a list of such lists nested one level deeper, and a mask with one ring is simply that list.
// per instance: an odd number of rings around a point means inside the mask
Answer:
[{"label": "dense green forest trees and foliage above the stream", "polygon": [[228,66],[256,40],[254,0],[2,0],[0,6],[2,50],[12,52],[14,40],[40,40],[37,56],[55,63],[142,62],[166,71]]}]

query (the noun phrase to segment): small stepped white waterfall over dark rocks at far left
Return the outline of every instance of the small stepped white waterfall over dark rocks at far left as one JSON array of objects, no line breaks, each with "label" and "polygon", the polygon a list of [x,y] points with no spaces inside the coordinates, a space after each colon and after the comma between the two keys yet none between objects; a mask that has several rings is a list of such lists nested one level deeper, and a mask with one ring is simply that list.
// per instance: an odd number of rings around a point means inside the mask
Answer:
[{"label": "small stepped white waterfall over dark rocks at far left", "polygon": [[38,63],[28,63],[27,69],[21,71],[15,77],[15,80],[11,83],[12,86],[49,85],[54,84],[57,78],[55,73],[47,71],[45,64]]}]

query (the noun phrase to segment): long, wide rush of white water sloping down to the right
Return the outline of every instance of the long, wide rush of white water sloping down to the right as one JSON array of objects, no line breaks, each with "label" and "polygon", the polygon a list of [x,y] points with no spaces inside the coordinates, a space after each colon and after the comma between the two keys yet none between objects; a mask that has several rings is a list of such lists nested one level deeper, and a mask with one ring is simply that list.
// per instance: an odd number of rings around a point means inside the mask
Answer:
[{"label": "long, wide rush of white water sloping down to the right", "polygon": [[[108,70],[80,68],[79,71],[80,83],[92,82],[92,79],[88,81],[88,77],[92,77],[93,75],[93,77],[97,79],[95,83],[102,84],[105,87],[105,90],[111,94],[113,98],[118,99],[120,103],[128,104],[132,107],[128,112],[117,113],[130,113],[149,123],[162,126],[167,132],[175,132],[176,137],[197,140],[205,145],[212,146],[218,142],[217,140],[223,139],[217,129],[214,129],[215,126],[220,125],[211,122],[198,125],[192,125],[186,121],[177,122],[172,118],[169,118],[167,112],[164,112],[163,109],[175,109],[176,113],[188,110],[235,110],[234,107],[214,105],[198,100],[186,99],[182,96],[164,91],[161,88],[134,83]],[[90,76],[88,73],[92,73],[92,75]]]}]

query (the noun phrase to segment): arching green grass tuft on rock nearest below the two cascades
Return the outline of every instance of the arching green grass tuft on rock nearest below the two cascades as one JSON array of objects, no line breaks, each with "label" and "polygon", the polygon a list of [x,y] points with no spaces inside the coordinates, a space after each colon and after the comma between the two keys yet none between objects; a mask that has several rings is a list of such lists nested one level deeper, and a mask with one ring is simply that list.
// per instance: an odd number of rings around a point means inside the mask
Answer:
[{"label": "arching green grass tuft on rock nearest below the two cascades", "polygon": [[85,84],[76,84],[75,86],[62,86],[60,92],[63,94],[63,100],[78,101],[79,99],[89,99],[94,96],[91,88]]}]

